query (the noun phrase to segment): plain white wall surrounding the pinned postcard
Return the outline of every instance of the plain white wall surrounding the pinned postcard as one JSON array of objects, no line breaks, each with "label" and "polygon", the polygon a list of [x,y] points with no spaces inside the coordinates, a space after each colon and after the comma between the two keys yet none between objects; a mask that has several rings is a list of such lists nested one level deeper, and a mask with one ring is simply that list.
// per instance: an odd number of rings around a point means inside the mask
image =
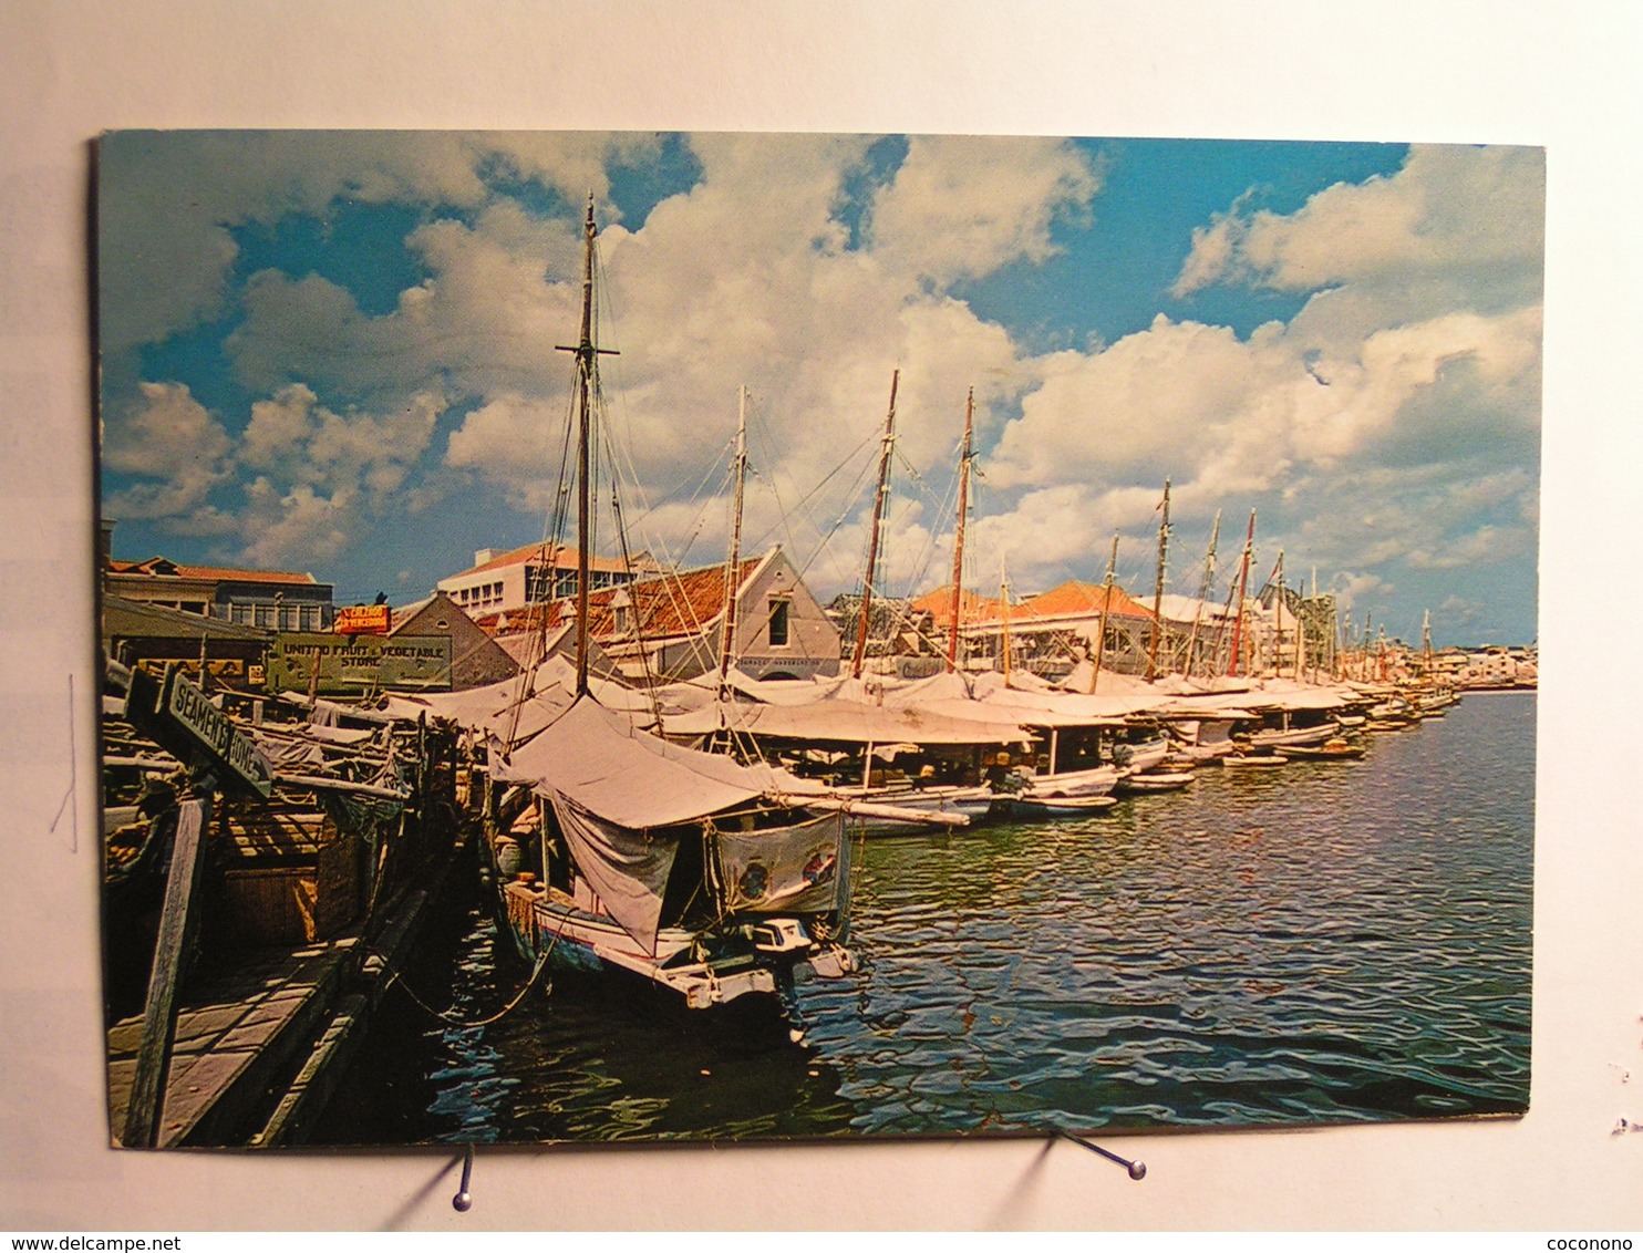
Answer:
[{"label": "plain white wall surrounding the pinned postcard", "polygon": [[[1643,1228],[1628,0],[0,3],[0,1228]],[[90,140],[122,126],[994,131],[1548,148],[1535,1085],[1520,1122],[444,1153],[107,1148]],[[1630,1071],[1630,1081],[1625,1072]]]}]

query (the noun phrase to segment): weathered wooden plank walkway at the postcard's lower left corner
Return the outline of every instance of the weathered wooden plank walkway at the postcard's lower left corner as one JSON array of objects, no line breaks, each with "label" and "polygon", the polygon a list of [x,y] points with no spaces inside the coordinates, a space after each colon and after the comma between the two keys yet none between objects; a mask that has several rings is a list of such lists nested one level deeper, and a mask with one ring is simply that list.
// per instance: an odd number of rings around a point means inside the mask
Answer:
[{"label": "weathered wooden plank walkway at the postcard's lower left corner", "polygon": [[[158,1143],[222,1145],[299,1051],[314,1046],[350,967],[357,936],[251,956],[186,980]],[[110,1127],[125,1127],[143,1020],[108,1030]],[[118,1141],[117,1141],[118,1143]]]}]

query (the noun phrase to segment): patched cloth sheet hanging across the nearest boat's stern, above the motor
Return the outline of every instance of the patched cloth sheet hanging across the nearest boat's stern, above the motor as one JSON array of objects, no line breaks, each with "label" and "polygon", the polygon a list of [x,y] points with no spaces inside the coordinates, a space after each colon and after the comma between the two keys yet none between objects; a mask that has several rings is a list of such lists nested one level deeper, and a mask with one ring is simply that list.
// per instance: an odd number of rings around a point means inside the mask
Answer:
[{"label": "patched cloth sheet hanging across the nearest boat's stern, above the motor", "polygon": [[849,877],[845,816],[775,831],[720,831],[725,908],[743,913],[825,913],[840,906]]}]

